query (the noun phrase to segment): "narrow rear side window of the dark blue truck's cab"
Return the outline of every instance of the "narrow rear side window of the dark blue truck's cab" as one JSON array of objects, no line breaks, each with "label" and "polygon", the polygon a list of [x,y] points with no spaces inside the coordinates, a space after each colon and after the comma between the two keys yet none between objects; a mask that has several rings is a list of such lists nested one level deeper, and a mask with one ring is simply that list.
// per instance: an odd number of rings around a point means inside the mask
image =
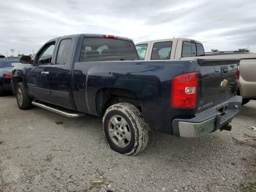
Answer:
[{"label": "narrow rear side window of the dark blue truck's cab", "polygon": [[58,49],[56,64],[65,64],[67,62],[70,53],[71,43],[71,39],[61,40]]}]

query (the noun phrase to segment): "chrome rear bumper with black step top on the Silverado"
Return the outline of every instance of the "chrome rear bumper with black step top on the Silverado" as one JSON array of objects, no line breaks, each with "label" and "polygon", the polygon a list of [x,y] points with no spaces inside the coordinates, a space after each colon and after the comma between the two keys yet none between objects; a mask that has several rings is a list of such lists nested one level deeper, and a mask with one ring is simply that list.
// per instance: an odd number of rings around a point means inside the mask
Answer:
[{"label": "chrome rear bumper with black step top on the Silverado", "polygon": [[[192,119],[174,119],[172,121],[173,134],[180,137],[196,138],[214,132],[231,122],[239,112],[242,96],[233,96],[202,112],[198,112]],[[222,113],[218,110],[224,107]]]}]

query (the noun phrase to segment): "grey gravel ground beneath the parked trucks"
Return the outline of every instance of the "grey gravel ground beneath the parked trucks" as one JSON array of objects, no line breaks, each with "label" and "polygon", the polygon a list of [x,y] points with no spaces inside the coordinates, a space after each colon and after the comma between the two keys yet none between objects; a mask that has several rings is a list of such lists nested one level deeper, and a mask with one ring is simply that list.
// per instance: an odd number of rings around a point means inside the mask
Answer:
[{"label": "grey gravel ground beneath the parked trucks", "polygon": [[256,101],[242,106],[231,132],[193,139],[150,133],[138,156],[108,148],[102,118],[22,111],[14,96],[0,97],[0,106],[0,191],[234,192],[256,181],[256,147],[232,139],[256,136]]}]

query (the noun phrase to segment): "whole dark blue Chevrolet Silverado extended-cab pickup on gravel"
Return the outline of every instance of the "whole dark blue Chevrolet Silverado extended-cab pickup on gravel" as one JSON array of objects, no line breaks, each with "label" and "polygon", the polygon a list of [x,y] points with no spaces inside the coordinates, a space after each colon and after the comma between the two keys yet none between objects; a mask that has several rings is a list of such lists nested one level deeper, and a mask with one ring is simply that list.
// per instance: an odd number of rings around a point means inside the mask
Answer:
[{"label": "whole dark blue Chevrolet Silverado extended-cab pickup on gravel", "polygon": [[131,39],[76,34],[49,40],[12,70],[20,109],[33,105],[68,117],[103,116],[110,148],[135,155],[149,131],[199,137],[229,124],[240,60],[138,60]]}]

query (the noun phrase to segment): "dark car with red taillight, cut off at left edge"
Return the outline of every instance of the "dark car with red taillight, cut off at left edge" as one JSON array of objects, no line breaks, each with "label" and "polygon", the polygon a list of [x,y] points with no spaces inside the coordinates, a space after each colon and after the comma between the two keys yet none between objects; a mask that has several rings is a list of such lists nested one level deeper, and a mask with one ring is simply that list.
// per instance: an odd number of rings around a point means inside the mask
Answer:
[{"label": "dark car with red taillight, cut off at left edge", "polygon": [[12,68],[18,64],[17,60],[0,60],[0,96],[11,91]]}]

